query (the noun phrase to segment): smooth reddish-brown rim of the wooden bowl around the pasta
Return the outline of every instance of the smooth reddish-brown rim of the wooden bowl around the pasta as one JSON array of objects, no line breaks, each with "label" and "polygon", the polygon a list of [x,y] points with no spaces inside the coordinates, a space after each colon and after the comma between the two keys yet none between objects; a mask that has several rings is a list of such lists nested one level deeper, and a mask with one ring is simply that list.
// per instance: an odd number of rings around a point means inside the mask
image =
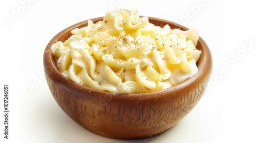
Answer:
[{"label": "smooth reddish-brown rim of the wooden bowl around the pasta", "polygon": [[[169,20],[165,20],[165,19],[161,19],[161,18],[155,18],[155,17],[151,17],[151,16],[147,16],[147,17],[148,17],[149,20],[162,21],[162,22],[168,23],[169,25],[173,25],[175,27],[178,27],[181,30],[188,30],[188,28],[180,25],[179,23],[173,22],[173,21],[169,21]],[[81,97],[85,96],[86,92],[91,92],[91,93],[99,93],[99,94],[97,94],[97,96],[101,95],[102,97],[111,96],[111,98],[121,98],[121,99],[122,99],[122,97],[125,97],[124,98],[125,101],[127,101],[129,99],[133,100],[134,98],[138,98],[138,97],[140,97],[140,99],[143,99],[143,97],[145,99],[147,99],[146,97],[152,96],[152,95],[154,95],[155,98],[157,98],[158,96],[162,97],[162,93],[168,93],[168,96],[170,96],[169,98],[175,98],[175,97],[179,96],[178,93],[182,88],[186,88],[187,86],[195,86],[197,84],[198,80],[203,80],[205,77],[207,77],[207,76],[205,76],[205,74],[206,75],[211,74],[211,70],[212,70],[211,53],[210,53],[209,47],[207,46],[205,41],[200,36],[199,40],[198,40],[198,45],[199,44],[202,45],[202,48],[200,49],[202,51],[202,54],[199,58],[200,63],[199,63],[199,61],[197,62],[197,66],[199,65],[198,66],[198,73],[193,78],[187,78],[185,81],[181,82],[178,85],[175,85],[175,86],[172,86],[172,87],[160,90],[160,91],[149,92],[149,93],[113,93],[113,92],[99,91],[99,90],[96,90],[96,89],[92,89],[92,88],[80,85],[80,84],[78,84],[74,81],[71,81],[70,79],[63,76],[59,72],[59,70],[57,69],[56,63],[54,61],[54,57],[53,57],[52,52],[51,52],[51,45],[53,43],[55,43],[58,38],[63,36],[63,34],[65,34],[65,32],[71,31],[74,28],[82,28],[82,27],[84,27],[84,25],[87,25],[88,20],[92,20],[95,23],[95,22],[97,22],[99,20],[102,20],[102,19],[103,19],[103,17],[87,19],[87,20],[75,23],[74,25],[72,25],[72,26],[60,31],[59,33],[57,33],[49,41],[49,43],[47,44],[46,49],[44,51],[43,58],[44,58],[45,74],[47,76],[49,76],[52,80],[54,80],[56,83],[59,83],[62,86],[67,87],[71,91],[76,91],[79,94],[79,96],[81,96]],[[172,28],[172,26],[171,26],[171,28]],[[52,69],[49,69],[49,68],[52,68]],[[210,76],[208,76],[208,78],[209,77]],[[173,94],[169,94],[169,93],[173,93]],[[131,97],[131,98],[127,98],[127,97]]]}]

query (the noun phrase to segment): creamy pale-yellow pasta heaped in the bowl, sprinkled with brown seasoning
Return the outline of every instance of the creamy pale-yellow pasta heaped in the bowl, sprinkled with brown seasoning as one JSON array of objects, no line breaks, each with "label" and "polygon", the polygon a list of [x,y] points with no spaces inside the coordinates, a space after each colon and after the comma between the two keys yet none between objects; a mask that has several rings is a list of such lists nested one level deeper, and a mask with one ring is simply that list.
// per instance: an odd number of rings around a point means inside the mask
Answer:
[{"label": "creamy pale-yellow pasta heaped in the bowl, sprinkled with brown seasoning", "polygon": [[68,79],[114,93],[146,93],[175,86],[198,73],[199,33],[158,27],[138,11],[115,10],[71,31],[51,47]]}]

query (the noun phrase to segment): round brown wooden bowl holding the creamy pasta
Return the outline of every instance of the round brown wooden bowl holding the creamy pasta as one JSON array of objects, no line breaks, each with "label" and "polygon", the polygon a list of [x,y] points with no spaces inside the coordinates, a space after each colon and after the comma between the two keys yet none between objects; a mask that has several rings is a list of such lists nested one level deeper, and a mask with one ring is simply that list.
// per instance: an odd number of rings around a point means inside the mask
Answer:
[{"label": "round brown wooden bowl holding the creamy pasta", "polygon": [[[188,30],[175,22],[148,18],[156,26],[168,24],[172,29]],[[91,20],[97,22],[102,19]],[[194,78],[152,93],[109,93],[84,87],[61,75],[51,53],[51,45],[55,41],[65,41],[71,36],[72,29],[87,24],[87,20],[82,21],[59,32],[48,43],[44,53],[45,75],[51,93],[60,108],[75,122],[104,137],[139,139],[164,132],[197,105],[212,69],[210,51],[201,37],[197,46],[202,51],[197,63],[199,72]]]}]

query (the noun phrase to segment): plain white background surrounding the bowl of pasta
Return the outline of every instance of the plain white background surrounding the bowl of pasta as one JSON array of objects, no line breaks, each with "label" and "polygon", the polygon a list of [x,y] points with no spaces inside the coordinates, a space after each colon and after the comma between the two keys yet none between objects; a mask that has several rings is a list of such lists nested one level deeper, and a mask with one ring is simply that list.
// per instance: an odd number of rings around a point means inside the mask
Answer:
[{"label": "plain white background surrounding the bowl of pasta", "polygon": [[[74,23],[113,9],[196,27],[214,67],[199,104],[163,134],[140,140],[95,135],[56,104],[44,77],[42,56],[50,39]],[[40,1],[0,2],[0,142],[256,142],[253,1]],[[4,84],[9,85],[9,139],[4,139]]]}]

